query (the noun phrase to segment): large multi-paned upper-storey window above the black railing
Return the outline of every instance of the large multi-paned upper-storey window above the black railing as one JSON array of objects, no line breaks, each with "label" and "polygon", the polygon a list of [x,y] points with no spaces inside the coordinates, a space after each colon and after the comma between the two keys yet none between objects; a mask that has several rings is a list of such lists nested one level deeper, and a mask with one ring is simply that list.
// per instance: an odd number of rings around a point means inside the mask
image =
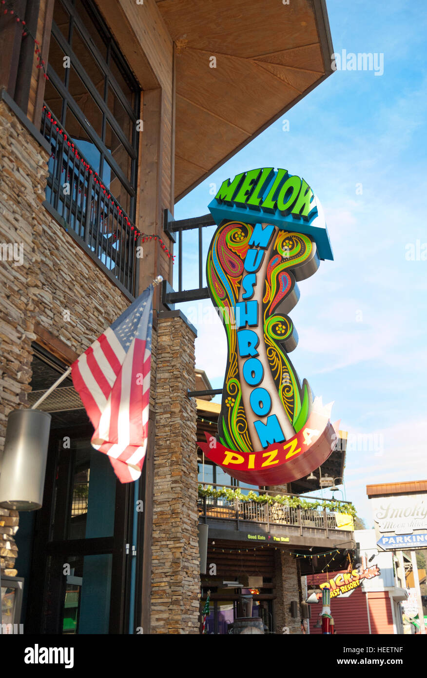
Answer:
[{"label": "large multi-paned upper-storey window above the black railing", "polygon": [[134,220],[140,89],[91,0],[56,0],[47,73],[46,105]]}]

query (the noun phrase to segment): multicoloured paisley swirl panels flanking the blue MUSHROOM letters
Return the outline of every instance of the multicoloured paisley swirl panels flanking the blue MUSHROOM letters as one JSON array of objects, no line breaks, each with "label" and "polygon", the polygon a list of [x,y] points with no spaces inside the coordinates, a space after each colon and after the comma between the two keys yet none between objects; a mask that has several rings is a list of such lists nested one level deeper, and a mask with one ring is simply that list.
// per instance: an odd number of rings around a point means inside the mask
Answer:
[{"label": "multicoloured paisley swirl panels flanking the blue MUSHROOM letters", "polygon": [[[218,421],[219,439],[226,447],[243,452],[252,452],[254,447],[249,435],[248,413],[243,405],[239,381],[237,332],[234,322],[228,319],[234,320],[233,308],[239,300],[241,281],[245,275],[244,261],[253,228],[251,224],[242,222],[223,222],[213,236],[207,256],[209,294],[222,319],[228,344],[222,408]],[[275,229],[272,243],[264,254],[269,258],[260,308],[268,360],[264,370],[270,368],[285,415],[295,432],[300,431],[310,414],[312,395],[308,382],[304,380],[300,383],[283,347],[283,342],[293,336],[293,323],[287,315],[280,313],[280,306],[296,287],[292,269],[303,266],[314,255],[315,245],[309,237],[279,231],[278,228]],[[279,313],[275,313],[276,309]]]}]

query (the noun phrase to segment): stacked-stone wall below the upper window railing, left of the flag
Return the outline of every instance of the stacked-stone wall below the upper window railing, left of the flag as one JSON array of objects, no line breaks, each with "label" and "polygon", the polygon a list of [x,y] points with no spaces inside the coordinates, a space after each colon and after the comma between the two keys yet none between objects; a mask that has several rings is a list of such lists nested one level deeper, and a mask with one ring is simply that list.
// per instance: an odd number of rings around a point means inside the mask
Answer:
[{"label": "stacked-stone wall below the upper window railing, left of the flag", "polygon": [[[80,354],[129,305],[41,205],[47,160],[47,152],[0,101],[0,247],[15,245],[18,260],[0,250],[0,452],[7,415],[24,407],[31,391],[35,323]],[[0,565],[12,576],[16,530],[18,513],[1,509]]]}]

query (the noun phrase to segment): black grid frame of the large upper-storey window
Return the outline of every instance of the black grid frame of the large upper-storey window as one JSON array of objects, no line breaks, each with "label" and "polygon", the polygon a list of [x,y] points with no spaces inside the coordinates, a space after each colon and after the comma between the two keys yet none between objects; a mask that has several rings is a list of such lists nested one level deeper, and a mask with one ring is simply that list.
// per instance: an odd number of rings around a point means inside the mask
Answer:
[{"label": "black grid frame of the large upper-storey window", "polygon": [[[136,130],[136,125],[138,120],[140,119],[139,113],[140,113],[140,92],[141,88],[140,85],[138,84],[138,81],[136,81],[134,75],[131,73],[131,70],[129,66],[127,66],[127,63],[125,62],[125,59],[121,55],[119,45],[117,45],[115,39],[111,35],[110,31],[108,31],[108,27],[106,26],[104,20],[102,20],[102,17],[100,16],[98,10],[96,9],[96,6],[91,0],[83,0],[83,3],[85,5],[85,9],[87,11],[87,14],[94,20],[94,24],[98,24],[100,28],[102,29],[102,33],[104,33],[104,37],[106,39],[106,57],[102,56],[100,51],[98,50],[98,47],[96,47],[94,41],[91,39],[91,35],[89,31],[87,30],[83,20],[81,20],[81,17],[79,14],[77,14],[77,9],[75,7],[75,3],[70,2],[70,0],[56,0],[56,2],[60,2],[66,12],[68,12],[70,16],[69,20],[69,26],[68,26],[68,41],[65,39],[62,31],[60,28],[57,26],[56,22],[52,20],[52,35],[54,39],[56,39],[58,45],[60,46],[60,49],[62,49],[62,52],[66,56],[70,57],[70,65],[73,66],[75,69],[77,75],[81,78],[81,81],[87,88],[89,94],[91,97],[94,99],[96,102],[96,105],[100,108],[100,111],[102,113],[102,138],[105,139],[106,135],[106,123],[110,125],[111,129],[121,142],[123,144],[123,147],[125,148],[125,151],[129,154],[131,157],[131,176],[130,180],[127,178],[127,176],[123,173],[123,170],[121,167],[118,165],[118,163],[115,161],[113,157],[110,155],[110,149],[107,148],[105,145],[104,141],[98,134],[96,133],[95,129],[91,126],[89,121],[87,121],[86,116],[83,114],[81,111],[81,108],[79,108],[78,104],[75,102],[73,99],[73,96],[71,96],[69,90],[68,90],[68,83],[70,79],[70,68],[65,68],[65,77],[64,81],[60,78],[60,76],[54,71],[53,67],[49,64],[47,64],[47,75],[49,77],[49,80],[52,82],[53,87],[58,91],[58,94],[62,97],[62,112],[61,112],[61,119],[60,123],[62,124],[62,127],[66,129],[66,109],[67,106],[70,108],[71,113],[75,116],[77,121],[80,123],[81,127],[85,129],[85,132],[87,133],[87,136],[89,136],[90,142],[96,146],[100,153],[100,167],[99,167],[99,172],[98,174],[102,177],[102,172],[104,169],[104,164],[107,163],[109,165],[110,169],[115,173],[117,178],[121,181],[127,192],[129,193],[130,197],[130,209],[129,209],[129,218],[131,220],[135,220],[136,218],[136,187],[137,187],[137,180],[138,180],[138,146],[139,146],[139,138],[138,138],[138,132]],[[71,41],[73,39],[73,31],[74,28],[77,28],[79,31],[83,41],[85,42],[85,45],[87,49],[89,50],[91,56],[93,56],[96,65],[98,68],[100,68],[100,71],[104,74],[104,98],[100,95],[98,92],[98,89],[94,85],[94,83],[91,81],[87,73],[85,72],[85,69],[81,65],[79,58],[73,52],[73,49],[71,48]],[[125,94],[121,90],[121,87],[117,80],[115,79],[115,76],[113,75],[113,72],[111,71],[109,64],[110,64],[110,59],[112,58],[112,54],[114,54],[115,57],[115,62],[119,62],[120,64],[120,70],[122,73],[125,73],[125,79],[129,82],[129,86],[131,86],[131,89],[134,91],[134,107],[132,108],[131,104],[129,104],[129,101],[127,100]],[[123,75],[124,77],[124,75]],[[113,94],[117,97],[119,100],[120,104],[123,106],[125,113],[129,116],[129,119],[131,120],[132,126],[133,126],[133,132],[132,132],[132,138],[131,142],[127,139],[127,136],[123,132],[123,129],[115,119],[113,113],[111,113],[110,108],[108,108],[108,104],[106,102],[106,99],[108,97],[108,86],[111,87],[113,90]],[[78,142],[77,142],[78,145]],[[82,155],[84,156],[85,153],[82,152]]]}]

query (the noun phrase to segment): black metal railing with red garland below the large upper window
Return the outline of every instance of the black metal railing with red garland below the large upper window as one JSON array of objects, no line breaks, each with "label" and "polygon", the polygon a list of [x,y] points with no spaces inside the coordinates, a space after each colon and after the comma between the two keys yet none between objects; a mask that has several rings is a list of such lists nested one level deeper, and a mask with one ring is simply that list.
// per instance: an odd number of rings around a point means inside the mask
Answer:
[{"label": "black metal railing with red garland below the large upper window", "polygon": [[41,133],[52,148],[47,203],[108,273],[134,294],[138,233],[134,224],[47,106]]}]

